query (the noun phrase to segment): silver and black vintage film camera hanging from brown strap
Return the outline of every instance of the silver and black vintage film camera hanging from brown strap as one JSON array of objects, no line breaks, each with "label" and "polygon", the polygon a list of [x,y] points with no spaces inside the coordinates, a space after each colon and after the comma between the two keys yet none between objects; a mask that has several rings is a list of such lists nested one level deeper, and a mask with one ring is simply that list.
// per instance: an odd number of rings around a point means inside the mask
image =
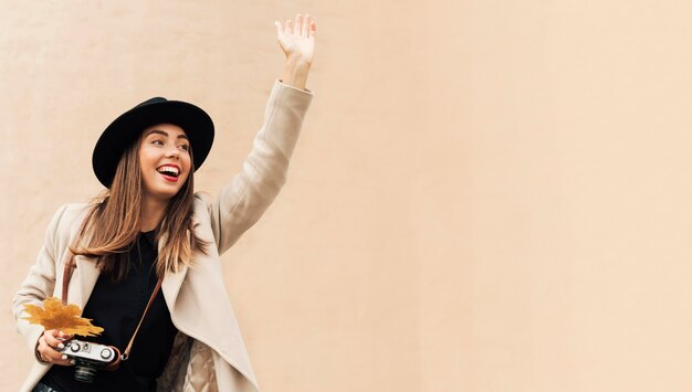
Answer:
[{"label": "silver and black vintage film camera hanging from brown strap", "polygon": [[65,341],[64,345],[65,348],[57,351],[74,360],[74,379],[77,381],[92,383],[96,370],[117,359],[117,353],[108,346],[75,339]]}]

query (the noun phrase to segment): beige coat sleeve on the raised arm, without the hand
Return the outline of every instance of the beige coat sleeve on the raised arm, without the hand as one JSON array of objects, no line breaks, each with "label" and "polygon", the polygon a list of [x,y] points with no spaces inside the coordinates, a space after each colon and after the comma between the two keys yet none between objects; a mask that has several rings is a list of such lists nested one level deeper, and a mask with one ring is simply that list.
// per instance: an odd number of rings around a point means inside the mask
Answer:
[{"label": "beige coat sleeve on the raised arm, without the hand", "polygon": [[262,216],[286,181],[289,160],[312,98],[311,91],[274,82],[264,124],[242,170],[207,204],[219,254]]}]

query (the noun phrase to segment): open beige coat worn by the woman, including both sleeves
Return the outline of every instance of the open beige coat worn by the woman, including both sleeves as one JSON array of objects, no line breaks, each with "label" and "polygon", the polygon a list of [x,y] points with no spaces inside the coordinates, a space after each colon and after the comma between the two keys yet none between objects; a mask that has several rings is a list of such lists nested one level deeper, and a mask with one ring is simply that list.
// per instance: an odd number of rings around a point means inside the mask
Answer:
[{"label": "open beige coat worn by the woman, including both sleeves", "polygon": [[[216,200],[196,194],[193,230],[216,243],[195,265],[168,273],[161,284],[172,322],[180,333],[159,391],[258,391],[258,382],[224,288],[219,255],[252,226],[285,182],[289,160],[313,94],[275,81],[264,125],[242,170]],[[23,320],[24,304],[60,297],[62,272],[85,214],[85,204],[63,205],[53,216],[35,264],[12,300],[17,328],[32,353],[43,328]],[[159,242],[159,247],[165,239]],[[98,278],[93,259],[76,256],[67,300],[84,308]],[[31,391],[50,365],[35,362],[21,391]]]}]

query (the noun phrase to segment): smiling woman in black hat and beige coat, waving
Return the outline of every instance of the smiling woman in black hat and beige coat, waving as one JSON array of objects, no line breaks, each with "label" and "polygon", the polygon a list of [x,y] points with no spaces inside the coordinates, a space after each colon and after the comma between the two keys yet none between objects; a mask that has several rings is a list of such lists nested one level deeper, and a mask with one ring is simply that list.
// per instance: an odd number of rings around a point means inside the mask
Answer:
[{"label": "smiling woman in black hat and beige coat, waving", "polygon": [[[297,14],[276,29],[286,55],[283,77],[274,83],[242,171],[216,200],[193,192],[193,172],[213,140],[213,124],[202,109],[151,98],[104,130],[92,163],[106,191],[93,203],[66,204],[55,213],[13,298],[18,329],[36,357],[22,391],[258,390],[219,255],[284,183],[312,99],[305,82],[316,24]],[[74,359],[60,351],[73,337],[22,319],[24,305],[62,294],[105,329],[80,340],[129,357],[115,370],[97,370],[91,384],[74,379]]]}]

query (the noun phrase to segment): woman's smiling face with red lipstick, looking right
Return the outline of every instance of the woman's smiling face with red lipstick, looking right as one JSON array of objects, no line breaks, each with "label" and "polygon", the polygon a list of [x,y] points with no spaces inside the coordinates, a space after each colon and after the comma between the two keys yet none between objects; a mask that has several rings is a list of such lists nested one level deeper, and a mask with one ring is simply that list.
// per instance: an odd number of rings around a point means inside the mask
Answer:
[{"label": "woman's smiling face with red lipstick, looking right", "polygon": [[185,184],[192,167],[190,141],[182,128],[158,124],[141,134],[139,169],[148,198],[168,201]]}]

